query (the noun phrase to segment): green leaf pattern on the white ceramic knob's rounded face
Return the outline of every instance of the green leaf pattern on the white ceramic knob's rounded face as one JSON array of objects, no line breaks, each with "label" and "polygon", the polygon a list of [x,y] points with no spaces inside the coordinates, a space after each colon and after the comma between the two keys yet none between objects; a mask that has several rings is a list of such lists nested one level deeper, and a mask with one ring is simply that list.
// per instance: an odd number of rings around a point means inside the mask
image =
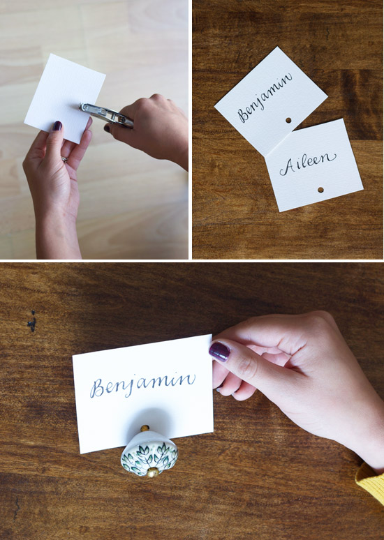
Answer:
[{"label": "green leaf pattern on the white ceramic knob's rounded face", "polygon": [[170,444],[161,445],[161,442],[150,442],[145,447],[140,444],[124,451],[121,456],[121,465],[124,469],[145,477],[150,467],[157,467],[158,472],[170,469],[175,465],[178,457],[177,447]]}]

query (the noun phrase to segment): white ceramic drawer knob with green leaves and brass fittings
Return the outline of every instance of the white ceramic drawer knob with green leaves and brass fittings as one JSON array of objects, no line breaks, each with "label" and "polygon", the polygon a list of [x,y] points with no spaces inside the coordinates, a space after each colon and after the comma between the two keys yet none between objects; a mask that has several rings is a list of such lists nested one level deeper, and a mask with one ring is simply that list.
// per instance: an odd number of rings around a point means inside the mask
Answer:
[{"label": "white ceramic drawer knob with green leaves and brass fittings", "polygon": [[121,454],[121,465],[139,477],[153,478],[173,467],[177,456],[175,442],[150,430],[149,426],[142,426]]}]

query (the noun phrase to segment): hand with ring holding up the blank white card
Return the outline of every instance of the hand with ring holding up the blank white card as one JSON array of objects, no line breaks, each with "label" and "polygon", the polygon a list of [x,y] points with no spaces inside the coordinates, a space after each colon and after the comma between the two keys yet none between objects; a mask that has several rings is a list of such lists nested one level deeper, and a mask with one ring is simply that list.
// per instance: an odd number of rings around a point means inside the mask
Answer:
[{"label": "hand with ring holding up the blank white card", "polygon": [[64,140],[64,128],[55,122],[50,133],[38,133],[22,164],[34,201],[38,259],[81,259],[76,172],[91,142],[89,126],[91,118],[80,144],[75,144]]}]

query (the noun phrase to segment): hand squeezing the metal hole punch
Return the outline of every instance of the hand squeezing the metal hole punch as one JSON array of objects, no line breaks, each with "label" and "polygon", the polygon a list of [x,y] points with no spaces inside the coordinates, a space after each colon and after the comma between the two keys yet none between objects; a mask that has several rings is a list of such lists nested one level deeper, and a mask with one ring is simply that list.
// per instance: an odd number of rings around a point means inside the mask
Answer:
[{"label": "hand squeezing the metal hole punch", "polygon": [[108,123],[105,131],[152,158],[168,159],[188,170],[188,119],[172,100],[154,93],[120,112],[133,120],[133,128]]}]

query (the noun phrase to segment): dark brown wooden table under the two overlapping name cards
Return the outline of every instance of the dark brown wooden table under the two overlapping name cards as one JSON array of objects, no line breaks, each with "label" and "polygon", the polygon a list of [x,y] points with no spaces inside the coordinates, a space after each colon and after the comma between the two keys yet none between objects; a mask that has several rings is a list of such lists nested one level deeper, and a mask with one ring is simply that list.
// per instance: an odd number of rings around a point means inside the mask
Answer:
[{"label": "dark brown wooden table under the two overlapping name cards", "polygon": [[[193,258],[383,257],[381,0],[193,0]],[[263,156],[214,104],[279,46],[344,118],[364,191],[279,213]]]}]

